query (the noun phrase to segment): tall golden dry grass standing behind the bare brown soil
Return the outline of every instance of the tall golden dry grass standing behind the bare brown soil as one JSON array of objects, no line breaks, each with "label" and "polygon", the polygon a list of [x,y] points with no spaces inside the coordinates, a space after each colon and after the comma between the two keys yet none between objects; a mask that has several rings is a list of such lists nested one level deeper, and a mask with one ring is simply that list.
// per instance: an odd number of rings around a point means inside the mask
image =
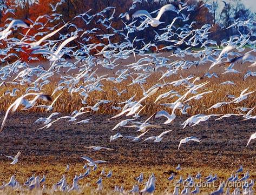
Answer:
[{"label": "tall golden dry grass standing behind the bare brown soil", "polygon": [[[202,71],[199,71],[200,73],[197,73],[196,75],[202,75]],[[193,72],[192,72],[193,73]],[[188,72],[184,72],[182,74],[183,77],[187,76]],[[152,74],[147,79],[147,83],[143,84],[145,90],[149,89],[151,86],[153,86],[156,83],[162,83],[162,81],[158,82],[157,80],[160,78],[160,75],[158,73]],[[165,79],[165,82],[172,82],[173,80],[180,79],[179,76],[171,76],[169,78]],[[237,86],[234,85],[219,85],[222,82],[225,82],[227,80],[232,80]],[[193,81],[193,79],[192,79]],[[191,82],[192,82],[191,81]],[[205,111],[212,105],[218,102],[228,102],[231,101],[231,99],[228,99],[226,95],[234,95],[238,97],[241,93],[242,90],[249,88],[248,91],[252,91],[256,89],[256,82],[253,77],[247,78],[245,81],[242,80],[242,75],[235,75],[235,74],[227,74],[227,75],[221,75],[219,78],[204,78],[197,82],[196,84],[210,81],[207,85],[205,85],[204,89],[200,89],[199,92],[204,92],[204,91],[210,91],[210,90],[216,90],[213,93],[209,93],[208,95],[205,95],[203,98],[199,100],[192,100],[188,104],[192,106],[191,109],[188,110],[189,115],[195,115],[198,113],[238,113],[236,110],[234,110],[234,107],[253,107],[256,102],[256,98],[254,94],[249,96],[246,100],[243,100],[239,104],[228,104],[220,107],[219,109],[211,109],[209,111]],[[74,110],[79,110],[82,106],[93,106],[95,103],[97,103],[97,99],[106,99],[106,100],[112,100],[113,102],[108,103],[108,104],[102,104],[100,106],[100,109],[97,111],[97,113],[102,113],[102,114],[115,114],[118,113],[119,111],[116,111],[112,109],[112,106],[119,106],[117,103],[123,102],[127,100],[128,98],[132,97],[133,95],[136,94],[135,100],[139,100],[140,98],[143,97],[143,91],[140,87],[139,84],[135,84],[132,86],[127,86],[130,84],[130,80],[124,80],[122,83],[112,83],[108,82],[106,80],[102,81],[102,89],[104,92],[99,92],[99,91],[93,91],[89,94],[89,97],[87,98],[87,104],[83,105],[81,103],[80,95],[78,93],[73,93],[73,96],[70,96],[70,92],[68,90],[62,90],[63,95],[57,100],[57,102],[54,105],[54,111],[56,112],[72,112]],[[81,85],[86,85],[82,84]],[[56,84],[54,82],[45,85],[44,88],[42,89],[42,92],[51,94],[52,91],[54,91]],[[26,85],[21,85],[21,86],[2,86],[0,89],[0,94],[4,94],[6,90],[12,90],[12,88],[19,88],[21,91],[17,92],[16,97],[10,97],[8,96],[3,96],[0,100],[0,110],[1,111],[6,111],[8,106],[14,102],[14,100],[23,95],[25,90],[27,89],[28,86]],[[117,96],[116,92],[112,90],[113,87],[116,87],[119,91],[123,89],[127,89],[128,93],[123,93],[122,96]],[[169,90],[175,90],[180,93],[180,95],[183,95],[187,90],[185,86],[178,86],[174,87],[172,85],[166,86],[165,88],[157,91],[155,95],[152,97],[147,98],[144,102],[142,102],[143,105],[146,105],[145,109],[141,112],[142,114],[152,114],[158,110],[165,109],[167,111],[170,111],[165,106],[159,105],[159,103],[173,103],[177,99],[177,97],[173,98],[165,98],[161,99],[159,102],[154,103],[155,99],[157,96],[159,96],[161,93],[165,93]],[[56,97],[60,92],[55,93],[54,97]],[[189,95],[187,98],[191,97],[192,95]],[[41,104],[44,104],[41,102]],[[44,109],[39,109],[39,108],[33,108],[29,110],[30,112],[43,112]],[[177,115],[180,115],[180,112],[176,113]]]}]

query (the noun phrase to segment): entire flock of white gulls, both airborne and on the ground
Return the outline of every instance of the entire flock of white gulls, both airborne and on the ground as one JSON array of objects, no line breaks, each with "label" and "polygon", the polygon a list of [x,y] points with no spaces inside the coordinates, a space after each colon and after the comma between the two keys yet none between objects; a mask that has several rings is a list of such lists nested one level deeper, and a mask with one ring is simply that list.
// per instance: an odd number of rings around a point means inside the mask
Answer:
[{"label": "entire flock of white gulls, both airborne and on the ground", "polygon": [[[130,9],[134,9],[136,7],[136,3],[139,1],[134,1],[132,7]],[[150,129],[160,128],[160,125],[154,125],[149,121],[152,119],[157,120],[158,118],[165,117],[166,121],[163,124],[170,124],[175,120],[175,113],[181,112],[183,115],[187,114],[187,110],[191,108],[192,105],[189,105],[191,100],[198,100],[204,97],[205,95],[213,95],[213,91],[207,91],[208,82],[201,82],[200,77],[195,77],[194,75],[189,75],[186,78],[183,78],[180,75],[180,79],[175,80],[173,82],[166,83],[165,78],[172,77],[173,75],[178,75],[180,70],[191,69],[194,66],[201,66],[204,64],[211,64],[209,66],[209,72],[206,72],[203,77],[216,79],[219,75],[215,72],[212,72],[212,68],[219,67],[219,69],[223,69],[221,74],[242,74],[240,71],[234,69],[234,65],[237,63],[250,63],[248,65],[248,71],[244,74],[244,80],[248,77],[256,76],[256,72],[249,70],[252,67],[256,66],[256,57],[254,56],[255,44],[256,44],[256,31],[255,24],[256,21],[253,18],[248,19],[247,21],[243,21],[241,18],[233,21],[229,28],[235,28],[238,31],[237,35],[233,35],[229,37],[228,40],[222,40],[221,44],[209,38],[209,34],[211,33],[211,24],[202,25],[199,29],[195,29],[194,24],[196,21],[193,21],[191,24],[188,24],[189,15],[185,15],[185,11],[193,11],[195,9],[194,5],[188,5],[187,3],[180,2],[179,6],[176,7],[173,4],[167,4],[162,6],[160,10],[153,11],[149,13],[146,10],[138,10],[134,12],[134,14],[130,17],[129,11],[125,14],[120,14],[117,16],[117,19],[120,19],[123,22],[123,29],[115,29],[111,24],[113,23],[113,19],[116,18],[116,8],[108,7],[103,9],[102,11],[92,14],[93,10],[88,10],[80,15],[71,18],[70,22],[62,23],[62,15],[57,14],[55,11],[57,6],[61,5],[57,3],[56,5],[50,5],[52,8],[51,15],[43,15],[38,16],[35,21],[30,19],[31,24],[27,24],[19,19],[9,18],[6,20],[6,25],[0,31],[0,41],[5,43],[5,48],[1,50],[1,62],[4,63],[4,66],[0,69],[0,86],[22,86],[28,85],[29,87],[24,92],[24,94],[18,97],[15,102],[13,102],[8,110],[5,113],[3,118],[1,131],[4,129],[5,121],[9,119],[9,113],[15,112],[19,106],[22,106],[22,110],[29,110],[32,107],[41,107],[45,109],[45,111],[51,111],[54,109],[55,103],[62,96],[62,92],[59,93],[55,98],[55,93],[59,91],[66,90],[72,96],[79,96],[81,98],[81,103],[84,105],[80,110],[75,110],[71,113],[71,115],[58,117],[60,113],[53,112],[47,118],[39,118],[35,121],[35,123],[42,123],[43,126],[40,129],[49,128],[52,124],[60,122],[60,120],[68,120],[71,123],[88,123],[91,118],[79,120],[77,122],[77,118],[82,116],[88,112],[94,111],[97,112],[100,106],[103,104],[108,104],[113,102],[113,100],[100,99],[97,100],[95,105],[88,105],[87,98],[94,91],[104,91],[103,90],[103,81],[112,82],[115,86],[118,86],[119,83],[123,81],[128,81],[130,79],[131,82],[128,86],[135,85],[139,89],[143,91],[143,97],[139,100],[135,100],[136,94],[131,94],[131,97],[123,102],[118,102],[115,106],[112,106],[111,109],[116,110],[117,114],[111,119],[118,118],[121,116],[129,117],[128,119],[122,120],[120,123],[116,124],[111,131],[116,131],[120,129],[120,127],[133,127],[136,129],[136,132],[139,132],[139,135],[135,136],[126,136],[131,139],[132,142],[161,142],[164,136],[168,135],[168,133],[173,130],[168,130],[162,132],[160,135],[147,137],[147,132]],[[206,8],[209,8],[208,4],[204,4]],[[173,21],[170,24],[166,24],[161,22],[161,17],[165,12],[174,12],[176,17],[173,18]],[[11,10],[9,12],[12,13]],[[158,12],[155,18],[152,15],[155,15]],[[110,17],[107,17],[106,13],[110,13]],[[42,23],[42,18],[47,20],[47,23]],[[81,29],[78,28],[73,21],[82,20],[86,25],[90,24],[91,21],[96,21],[96,24],[101,24],[104,26],[104,30],[109,30],[112,33],[106,34],[103,33],[103,29],[94,28],[94,29]],[[183,26],[175,26],[175,21],[181,20],[184,25]],[[8,23],[11,21],[10,23]],[[58,25],[53,27],[48,27],[48,23],[56,23],[59,22]],[[137,25],[139,23],[139,25]],[[147,30],[151,25],[153,28],[161,25],[162,28],[161,34],[155,31],[155,39],[154,43],[147,43],[146,39],[137,38],[136,32]],[[12,32],[18,28],[22,28],[23,32],[19,32],[19,37],[12,37]],[[63,35],[61,30],[64,28],[74,29],[72,32]],[[249,33],[242,33],[241,28],[246,29]],[[31,29],[37,29],[38,32],[35,35],[30,35],[29,32]],[[40,31],[44,30],[44,31]],[[89,44],[88,41],[91,39],[91,35],[96,35],[100,37],[100,39],[104,39],[107,41],[107,44],[104,43],[92,43]],[[52,40],[51,37],[58,36],[57,39]],[[122,38],[122,42],[113,43],[111,39],[115,36],[119,36]],[[40,37],[40,38],[39,38]],[[131,38],[133,37],[133,38]],[[178,37],[178,39],[173,39],[173,37]],[[82,39],[81,42],[78,42],[77,39]],[[38,41],[37,41],[38,40]],[[76,43],[76,46],[68,46],[69,43]],[[168,57],[163,57],[161,53],[150,53],[150,48],[157,48],[157,43],[165,42],[167,46],[159,49],[161,52],[163,50],[172,51],[172,54]],[[137,45],[141,45],[140,49],[137,49]],[[182,49],[183,45],[186,45],[186,49]],[[216,46],[221,46],[221,49],[216,49]],[[245,51],[245,46],[248,51]],[[29,60],[37,60],[40,61],[36,55],[41,55],[49,62],[49,68],[45,69],[42,65],[33,66],[27,62],[24,62],[15,52],[27,52],[22,48],[28,48],[30,52]],[[192,50],[194,47],[200,48],[200,50]],[[96,54],[92,54],[93,51],[97,51]],[[4,56],[4,57],[3,57]],[[72,60],[67,60],[67,56]],[[9,62],[9,58],[15,59],[14,62]],[[172,60],[174,57],[177,57],[178,60]],[[195,60],[186,60],[186,57],[192,57]],[[133,63],[120,65],[120,62],[125,59],[134,60]],[[222,66],[222,63],[228,63],[229,65]],[[244,65],[245,66],[245,65]],[[119,68],[116,72],[114,72],[114,76],[99,75],[97,71],[99,69],[111,70]],[[65,71],[64,71],[65,70]],[[163,71],[165,70],[165,72]],[[71,72],[76,73],[71,73]],[[162,72],[161,77],[158,79],[158,83],[152,85],[149,89],[144,89],[143,84],[147,83],[147,78],[149,78],[154,72]],[[51,78],[59,78],[55,90],[51,93],[51,95],[43,93],[43,89],[46,85],[51,83]],[[231,80],[227,80],[226,82],[220,83],[220,85],[235,85]],[[180,88],[185,91],[182,95],[175,90],[169,90],[168,92],[162,93],[159,95],[154,103],[160,102],[161,99],[169,98],[170,103],[160,104],[162,106],[168,107],[168,109],[172,109],[171,113],[168,113],[166,110],[160,110],[154,113],[154,115],[150,116],[145,122],[137,121],[140,118],[140,112],[145,109],[145,100],[149,97],[153,96],[160,89],[166,88],[168,86],[174,86],[175,88]],[[200,90],[205,90],[204,92],[200,92]],[[252,95],[256,90],[248,91],[249,88],[241,91],[238,97],[233,95],[228,95],[227,102],[219,102],[207,110],[212,110],[219,108],[221,106],[227,104],[236,105],[243,100],[247,99],[250,95]],[[12,89],[12,91],[7,90],[4,92],[4,97],[16,97],[17,92],[20,90],[17,88]],[[117,88],[113,88],[113,92],[117,94],[117,96],[122,97],[123,94],[127,93],[127,89],[123,89],[119,91]],[[190,97],[192,95],[192,97]],[[32,98],[32,99],[31,99]],[[178,98],[175,101],[172,101],[172,98]],[[31,100],[29,100],[31,99]],[[45,105],[38,105],[38,99],[42,99],[45,102]],[[50,105],[48,105],[48,104]],[[255,105],[256,106],[256,105]],[[218,117],[216,120],[222,120],[231,116],[241,116],[244,120],[248,119],[256,119],[256,116],[252,116],[252,112],[255,109],[254,107],[236,107],[234,110],[239,110],[240,114],[236,113],[228,113],[226,115],[204,115],[198,114],[191,116],[183,122],[183,128],[187,126],[195,126],[201,122],[205,122],[211,117]],[[122,138],[120,132],[113,133],[113,136],[110,137],[110,142],[114,142],[114,140],[118,138]],[[142,137],[144,138],[142,140]],[[246,147],[251,143],[253,139],[256,138],[256,132],[251,135],[248,139]],[[187,142],[199,142],[200,139],[196,137],[196,135],[191,137],[186,137],[180,140],[180,144],[178,149],[180,149],[182,144],[186,144]],[[93,149],[95,151],[99,150],[112,150],[107,147],[102,146],[87,146],[89,149]],[[15,157],[6,156],[11,158],[13,161],[11,164],[16,164],[18,162],[18,156],[21,152]],[[88,166],[84,166],[83,169],[86,169],[85,173],[81,173],[80,176],[75,176],[73,180],[73,185],[68,186],[65,177],[63,176],[58,183],[52,186],[53,190],[61,190],[61,191],[72,191],[79,190],[78,181],[84,177],[87,177],[90,174],[90,171],[94,171],[97,169],[97,164],[106,163],[103,160],[92,160],[89,157],[82,156],[84,160],[88,162]],[[177,167],[177,170],[180,169],[180,166]],[[69,170],[69,166],[67,167],[67,171]],[[244,179],[239,179],[238,171],[235,176],[232,175],[232,179],[228,179],[228,181],[246,181],[245,185],[242,187],[243,194],[252,194],[252,187],[254,185],[254,181],[251,183],[248,182],[249,174],[246,173]],[[97,180],[96,184],[98,185],[98,189],[102,189],[102,180],[111,177],[113,174],[112,171],[109,171],[108,174],[104,173],[104,170],[101,172],[101,176],[99,180]],[[173,180],[175,177],[172,174],[168,178],[168,180]],[[195,178],[189,176],[186,180],[188,183],[193,183],[194,179],[199,179],[200,174],[198,174]],[[218,179],[215,176],[209,176],[206,178],[207,183],[211,183],[211,181],[215,181]],[[143,174],[137,178],[139,183],[143,182]],[[40,184],[45,181],[45,177],[35,177],[32,176],[28,178],[26,183],[23,186],[27,186],[28,189],[34,189],[35,187],[40,187]],[[182,177],[179,179],[179,182],[182,183]],[[19,184],[15,177],[12,176],[9,183],[3,184],[0,188],[3,189],[6,186],[11,187],[23,187]],[[133,189],[130,191],[126,191],[129,193],[153,193],[155,190],[155,176],[149,177],[148,181],[145,184],[145,188],[143,190],[139,190],[139,185],[134,185]],[[124,192],[123,187],[116,186],[115,191]],[[181,194],[196,194],[199,193],[198,186],[195,187],[195,190],[190,192],[189,187],[185,187],[184,190],[181,191]],[[224,186],[221,184],[219,189],[213,194],[222,194],[224,193]],[[175,187],[173,194],[179,194],[179,187]],[[229,194],[227,190],[226,194]],[[240,189],[235,189],[232,194],[240,194]]]}]

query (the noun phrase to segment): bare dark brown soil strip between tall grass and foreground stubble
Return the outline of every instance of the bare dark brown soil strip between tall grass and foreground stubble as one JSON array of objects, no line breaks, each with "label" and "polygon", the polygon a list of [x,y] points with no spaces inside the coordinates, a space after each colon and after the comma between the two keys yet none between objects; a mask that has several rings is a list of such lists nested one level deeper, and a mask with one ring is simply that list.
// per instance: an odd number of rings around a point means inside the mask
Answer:
[{"label": "bare dark brown soil strip between tall grass and foreground stubble", "polygon": [[[250,169],[255,168],[256,143],[252,140],[246,148],[250,135],[256,131],[255,120],[242,121],[240,117],[231,117],[215,121],[214,118],[194,127],[182,129],[181,123],[186,117],[178,117],[172,124],[163,125],[165,119],[150,120],[162,129],[150,130],[143,139],[159,135],[173,129],[160,143],[131,142],[119,138],[109,142],[110,135],[120,132],[123,136],[139,135],[133,128],[121,127],[110,131],[124,118],[108,120],[106,115],[84,115],[79,119],[92,118],[88,124],[73,124],[59,120],[49,129],[38,130],[43,124],[33,124],[39,117],[49,116],[43,113],[14,113],[6,121],[0,133],[0,153],[15,155],[19,150],[22,155],[19,162],[37,163],[54,162],[68,164],[83,162],[81,155],[93,159],[107,160],[112,165],[172,165],[182,164],[191,167],[226,167],[237,168],[240,164]],[[3,118],[3,114],[1,118]],[[139,120],[145,120],[143,116]],[[78,120],[77,120],[78,121]],[[189,142],[178,150],[179,141],[188,136],[196,136],[201,143]],[[105,146],[115,151],[92,151],[83,146]],[[10,159],[0,156],[2,162]],[[2,170],[3,171],[3,170]]]}]

